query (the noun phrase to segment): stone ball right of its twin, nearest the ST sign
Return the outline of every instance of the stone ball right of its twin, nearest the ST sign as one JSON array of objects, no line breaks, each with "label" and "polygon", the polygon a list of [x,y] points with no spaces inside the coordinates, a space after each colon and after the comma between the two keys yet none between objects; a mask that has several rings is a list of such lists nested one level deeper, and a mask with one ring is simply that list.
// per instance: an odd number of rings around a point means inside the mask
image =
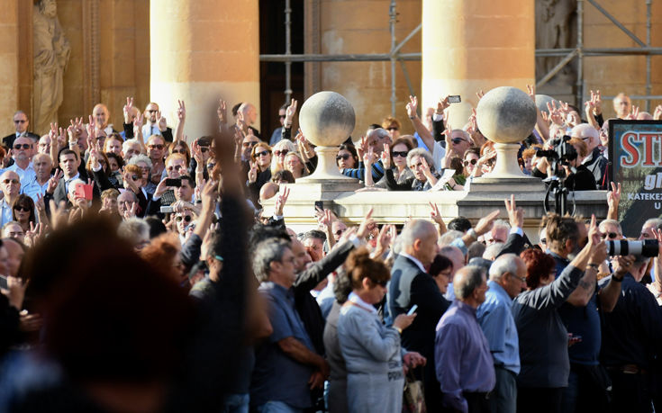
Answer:
[{"label": "stone ball right of its twin, nearest the ST sign", "polygon": [[536,104],[529,94],[510,86],[487,92],[476,108],[478,129],[495,143],[517,143],[536,125]]}]

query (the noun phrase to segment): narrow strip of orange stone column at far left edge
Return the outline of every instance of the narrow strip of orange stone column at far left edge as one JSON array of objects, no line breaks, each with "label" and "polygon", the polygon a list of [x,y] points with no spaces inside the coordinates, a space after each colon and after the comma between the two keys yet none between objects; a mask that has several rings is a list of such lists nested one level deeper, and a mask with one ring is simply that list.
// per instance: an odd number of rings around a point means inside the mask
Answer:
[{"label": "narrow strip of orange stone column at far left edge", "polygon": [[[2,136],[14,131],[13,116],[19,106],[19,50],[18,50],[18,0],[5,3],[3,13],[0,13],[0,31],[3,40],[0,42],[0,132]],[[26,109],[27,110],[27,109]]]}]

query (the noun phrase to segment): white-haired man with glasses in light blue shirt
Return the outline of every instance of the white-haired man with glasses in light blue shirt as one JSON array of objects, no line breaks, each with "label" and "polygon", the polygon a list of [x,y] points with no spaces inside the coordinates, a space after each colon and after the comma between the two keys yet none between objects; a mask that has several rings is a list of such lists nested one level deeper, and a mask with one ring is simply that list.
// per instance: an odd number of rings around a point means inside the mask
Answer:
[{"label": "white-haired man with glasses in light blue shirt", "polygon": [[489,290],[478,307],[476,318],[494,356],[496,385],[490,397],[492,411],[517,410],[517,382],[520,373],[520,344],[512,318],[512,299],[526,288],[526,265],[519,256],[500,256],[490,266]]}]

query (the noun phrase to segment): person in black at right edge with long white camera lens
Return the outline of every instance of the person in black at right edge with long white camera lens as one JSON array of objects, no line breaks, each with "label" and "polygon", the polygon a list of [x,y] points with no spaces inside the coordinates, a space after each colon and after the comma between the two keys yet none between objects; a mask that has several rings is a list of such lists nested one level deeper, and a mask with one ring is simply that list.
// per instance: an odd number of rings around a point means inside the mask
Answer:
[{"label": "person in black at right edge with long white camera lens", "polygon": [[[655,231],[660,238],[662,233]],[[600,283],[616,280],[622,284],[613,310],[601,311],[601,360],[612,379],[612,411],[651,411],[654,392],[650,372],[662,348],[662,310],[655,296],[640,283],[650,255],[644,250],[641,255],[619,256],[614,274]]]}]

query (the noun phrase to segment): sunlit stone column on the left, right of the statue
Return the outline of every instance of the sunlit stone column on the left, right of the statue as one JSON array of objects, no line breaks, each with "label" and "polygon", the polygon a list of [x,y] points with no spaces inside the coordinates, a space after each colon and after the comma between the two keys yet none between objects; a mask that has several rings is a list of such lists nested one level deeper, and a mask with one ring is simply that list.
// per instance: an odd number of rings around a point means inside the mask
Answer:
[{"label": "sunlit stone column on the left, right of the statue", "polygon": [[[218,100],[259,107],[258,0],[150,2],[150,99],[175,128],[186,102],[185,133],[210,132]],[[259,125],[253,125],[259,129]],[[264,131],[263,133],[268,133]]]}]

